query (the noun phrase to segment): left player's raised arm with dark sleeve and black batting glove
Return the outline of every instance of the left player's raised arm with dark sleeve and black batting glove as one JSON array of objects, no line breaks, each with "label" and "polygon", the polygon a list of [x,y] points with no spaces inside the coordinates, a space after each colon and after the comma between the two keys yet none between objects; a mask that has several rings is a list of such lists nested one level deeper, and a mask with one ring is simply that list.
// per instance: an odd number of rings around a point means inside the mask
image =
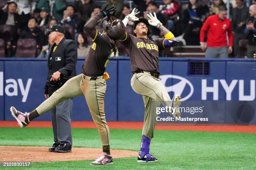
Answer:
[{"label": "left player's raised arm with dark sleeve and black batting glove", "polygon": [[90,37],[92,37],[92,40],[95,39],[95,37],[98,34],[98,30],[95,28],[97,21],[100,20],[102,17],[110,17],[110,15],[113,15],[115,12],[115,6],[104,8],[102,9],[97,15],[92,17],[85,25],[84,25],[84,31],[87,32]]}]

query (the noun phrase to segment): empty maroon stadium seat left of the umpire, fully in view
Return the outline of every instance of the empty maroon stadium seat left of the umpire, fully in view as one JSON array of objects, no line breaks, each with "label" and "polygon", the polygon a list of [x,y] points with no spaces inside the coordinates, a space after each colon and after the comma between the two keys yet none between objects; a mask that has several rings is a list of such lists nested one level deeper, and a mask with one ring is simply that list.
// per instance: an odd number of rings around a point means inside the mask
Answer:
[{"label": "empty maroon stadium seat left of the umpire, fully in view", "polygon": [[18,39],[15,57],[36,57],[36,40]]}]

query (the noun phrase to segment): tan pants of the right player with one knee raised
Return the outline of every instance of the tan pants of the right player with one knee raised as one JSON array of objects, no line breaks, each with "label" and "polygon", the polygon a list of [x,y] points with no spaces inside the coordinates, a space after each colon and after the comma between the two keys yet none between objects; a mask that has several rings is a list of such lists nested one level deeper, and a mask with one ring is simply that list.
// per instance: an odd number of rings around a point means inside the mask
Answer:
[{"label": "tan pants of the right player with one knee raised", "polygon": [[164,107],[169,106],[172,100],[161,81],[151,76],[150,72],[133,74],[131,87],[136,93],[143,95],[145,115],[142,135],[151,139],[156,125],[156,107],[160,107],[160,103]]}]

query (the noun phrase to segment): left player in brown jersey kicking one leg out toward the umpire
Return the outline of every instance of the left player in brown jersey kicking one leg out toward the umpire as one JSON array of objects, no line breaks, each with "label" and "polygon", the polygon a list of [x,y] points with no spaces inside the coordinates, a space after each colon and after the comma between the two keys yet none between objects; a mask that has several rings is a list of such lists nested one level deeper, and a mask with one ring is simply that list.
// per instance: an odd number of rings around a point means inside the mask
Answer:
[{"label": "left player in brown jersey kicking one leg out toward the umpire", "polygon": [[[103,73],[108,64],[110,55],[115,51],[115,43],[110,39],[105,30],[101,33],[100,30],[95,29],[95,26],[98,20],[105,16],[110,17],[114,11],[114,6],[108,9],[104,8],[84,25],[84,30],[92,37],[93,44],[84,61],[82,74],[69,79],[61,88],[56,90],[51,97],[41,103],[41,105],[32,112],[22,113],[16,110],[15,107],[10,108],[13,117],[18,121],[20,127],[24,127],[34,118],[51,110],[59,102],[84,95],[92,119],[97,125],[103,148],[103,153],[100,158],[91,162],[91,165],[113,164],[113,159],[110,155],[109,128],[104,112],[106,82],[103,79]],[[120,22],[122,23],[122,21]]]}]

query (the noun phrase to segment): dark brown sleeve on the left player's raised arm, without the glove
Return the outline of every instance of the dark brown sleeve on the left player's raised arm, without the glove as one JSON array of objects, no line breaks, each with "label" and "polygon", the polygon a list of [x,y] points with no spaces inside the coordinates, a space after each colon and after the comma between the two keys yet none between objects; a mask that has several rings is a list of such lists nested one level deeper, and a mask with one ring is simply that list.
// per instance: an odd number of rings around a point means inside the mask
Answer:
[{"label": "dark brown sleeve on the left player's raised arm, without the glove", "polygon": [[99,33],[95,27],[100,18],[102,18],[102,14],[98,13],[84,25],[84,31],[87,32],[90,37],[92,37],[92,40],[95,40],[97,34]]}]

